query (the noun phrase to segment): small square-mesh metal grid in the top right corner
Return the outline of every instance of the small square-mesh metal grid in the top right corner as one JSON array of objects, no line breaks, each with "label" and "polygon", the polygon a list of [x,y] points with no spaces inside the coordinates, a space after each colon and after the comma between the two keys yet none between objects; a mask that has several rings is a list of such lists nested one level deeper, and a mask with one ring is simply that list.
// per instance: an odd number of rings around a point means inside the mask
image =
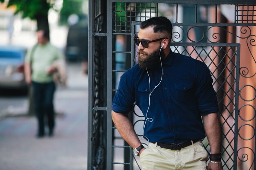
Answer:
[{"label": "small square-mesh metal grid in the top right corner", "polygon": [[236,5],[236,23],[256,23],[256,5]]}]

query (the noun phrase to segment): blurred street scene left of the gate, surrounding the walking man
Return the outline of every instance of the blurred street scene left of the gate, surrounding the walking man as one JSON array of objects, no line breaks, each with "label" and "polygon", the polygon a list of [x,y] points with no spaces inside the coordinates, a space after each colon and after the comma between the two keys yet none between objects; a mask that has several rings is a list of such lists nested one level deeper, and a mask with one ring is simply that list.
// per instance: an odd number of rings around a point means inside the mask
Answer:
[{"label": "blurred street scene left of the gate, surrounding the walking man", "polygon": [[[34,4],[45,4],[45,0],[0,0],[0,170],[87,169],[88,75],[85,60],[88,1],[48,2],[49,8]],[[13,4],[7,6],[8,3]],[[35,15],[31,17],[31,13],[22,12],[22,9],[15,15],[19,4]],[[42,11],[46,20],[37,18],[36,12]],[[17,72],[14,73],[15,67],[8,64],[13,63],[14,55],[11,54],[15,48],[24,49],[26,53],[37,43],[36,31],[40,24],[49,24],[50,43],[65,54],[67,87],[58,86],[54,95],[54,136],[49,137],[46,133],[38,139],[37,119],[28,114],[29,93],[24,86],[19,87],[21,82],[25,84],[24,56],[20,57]],[[6,55],[6,49],[10,50],[10,55]],[[6,79],[10,80],[11,86]]]}]

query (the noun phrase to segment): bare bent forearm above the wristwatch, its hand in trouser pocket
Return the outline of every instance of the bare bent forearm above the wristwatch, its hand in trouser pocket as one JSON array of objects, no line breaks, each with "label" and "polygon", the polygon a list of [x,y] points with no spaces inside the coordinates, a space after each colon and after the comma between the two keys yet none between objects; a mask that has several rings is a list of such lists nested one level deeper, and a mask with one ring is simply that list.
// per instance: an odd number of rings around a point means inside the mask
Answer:
[{"label": "bare bent forearm above the wristwatch, its hand in trouser pocket", "polygon": [[120,133],[121,137],[132,147],[137,148],[141,145],[138,136],[132,126],[130,119],[120,113],[115,113],[112,110],[112,120],[117,127],[118,132]]}]

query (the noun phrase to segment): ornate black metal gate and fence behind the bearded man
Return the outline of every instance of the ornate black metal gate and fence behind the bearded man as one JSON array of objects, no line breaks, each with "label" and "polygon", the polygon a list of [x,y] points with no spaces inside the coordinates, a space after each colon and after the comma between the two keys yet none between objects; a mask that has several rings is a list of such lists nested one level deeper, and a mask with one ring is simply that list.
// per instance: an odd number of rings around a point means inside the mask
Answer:
[{"label": "ornate black metal gate and fence behind the bearded man", "polygon": [[[254,0],[92,0],[89,12],[88,170],[139,169],[112,124],[111,104],[120,75],[135,64],[132,38],[140,22],[159,15],[173,23],[172,51],[205,62],[211,71],[223,168],[256,170]],[[130,117],[144,141],[144,117],[136,105]],[[206,138],[203,144],[209,152]]]}]

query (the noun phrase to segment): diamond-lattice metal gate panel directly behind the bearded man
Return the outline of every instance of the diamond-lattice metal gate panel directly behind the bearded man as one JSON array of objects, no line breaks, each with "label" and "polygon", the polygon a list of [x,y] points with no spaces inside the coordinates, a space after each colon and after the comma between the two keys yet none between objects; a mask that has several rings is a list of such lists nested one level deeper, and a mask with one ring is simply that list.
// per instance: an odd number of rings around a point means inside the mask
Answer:
[{"label": "diamond-lattice metal gate panel directly behind the bearded man", "polygon": [[[225,169],[232,170],[234,168],[234,140],[235,140],[235,98],[238,96],[236,89],[236,79],[239,73],[236,70],[238,66],[236,61],[239,59],[237,53],[237,45],[229,46],[228,44],[211,44],[211,46],[200,46],[195,43],[174,43],[171,44],[172,51],[183,55],[188,55],[194,59],[200,60],[207,64],[211,71],[213,78],[213,87],[217,93],[219,111],[219,119],[222,127],[222,165]],[[194,46],[192,44],[195,44]],[[202,43],[201,43],[202,44]],[[223,55],[224,53],[224,55]],[[222,65],[225,65],[222,67]],[[224,81],[223,81],[224,79]],[[144,122],[144,116],[141,111],[134,106],[136,117],[134,127],[137,128],[136,133],[144,142],[147,141],[142,138],[141,127]],[[204,138],[203,144],[210,153],[209,142]]]}]

